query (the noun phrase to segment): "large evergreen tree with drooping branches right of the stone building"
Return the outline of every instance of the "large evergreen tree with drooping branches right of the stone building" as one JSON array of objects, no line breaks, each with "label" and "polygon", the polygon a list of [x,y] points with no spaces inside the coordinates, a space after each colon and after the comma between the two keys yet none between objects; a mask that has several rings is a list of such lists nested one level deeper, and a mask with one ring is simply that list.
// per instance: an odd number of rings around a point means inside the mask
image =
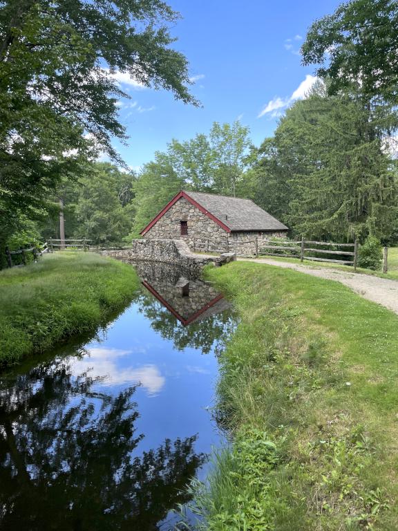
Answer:
[{"label": "large evergreen tree with drooping branches right of the stone building", "polygon": [[296,234],[341,240],[391,232],[395,163],[360,97],[329,97],[319,84],[287,110],[263,151],[257,193],[272,197],[268,207],[288,205],[281,218]]}]

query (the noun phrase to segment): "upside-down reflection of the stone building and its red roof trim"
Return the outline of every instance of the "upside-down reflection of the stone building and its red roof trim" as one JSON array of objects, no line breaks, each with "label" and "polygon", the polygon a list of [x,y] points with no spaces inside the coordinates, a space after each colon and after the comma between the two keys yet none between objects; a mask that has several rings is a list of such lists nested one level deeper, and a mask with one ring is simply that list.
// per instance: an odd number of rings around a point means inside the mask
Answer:
[{"label": "upside-down reflection of the stone building and its red roof trim", "polygon": [[213,286],[186,270],[144,262],[135,268],[145,288],[184,326],[231,307]]}]

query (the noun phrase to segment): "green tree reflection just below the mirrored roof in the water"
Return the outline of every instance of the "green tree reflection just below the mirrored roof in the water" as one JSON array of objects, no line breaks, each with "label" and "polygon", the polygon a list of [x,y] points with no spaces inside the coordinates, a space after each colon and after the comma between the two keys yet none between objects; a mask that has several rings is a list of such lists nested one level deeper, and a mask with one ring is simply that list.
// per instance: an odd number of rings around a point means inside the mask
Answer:
[{"label": "green tree reflection just below the mirrored roof in the water", "polygon": [[209,315],[189,326],[183,326],[149,292],[142,292],[138,305],[140,312],[151,321],[153,330],[160,333],[164,339],[171,339],[180,351],[190,346],[199,348],[205,354],[208,354],[212,348],[218,353],[236,326],[230,311]]}]

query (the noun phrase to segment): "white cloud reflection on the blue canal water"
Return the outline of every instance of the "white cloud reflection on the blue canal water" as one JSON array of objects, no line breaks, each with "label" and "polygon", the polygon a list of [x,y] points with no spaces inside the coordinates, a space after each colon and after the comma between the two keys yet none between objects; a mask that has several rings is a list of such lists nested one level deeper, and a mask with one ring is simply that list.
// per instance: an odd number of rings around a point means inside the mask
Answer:
[{"label": "white cloud reflection on the blue canal water", "polygon": [[[139,349],[142,352],[142,349]],[[86,371],[92,378],[102,377],[102,385],[142,384],[146,392],[153,396],[164,386],[164,376],[155,365],[141,367],[120,367],[117,359],[135,353],[135,350],[123,351],[119,348],[92,347],[87,349],[88,356],[74,360],[71,364],[73,374]]]}]

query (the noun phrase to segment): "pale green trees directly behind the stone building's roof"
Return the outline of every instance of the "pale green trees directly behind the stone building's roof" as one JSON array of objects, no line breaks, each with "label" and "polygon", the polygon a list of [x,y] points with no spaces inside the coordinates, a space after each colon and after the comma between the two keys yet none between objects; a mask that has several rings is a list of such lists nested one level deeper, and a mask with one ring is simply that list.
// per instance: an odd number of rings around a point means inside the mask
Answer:
[{"label": "pale green trees directly behind the stone building's roof", "polygon": [[155,159],[144,165],[134,185],[136,216],[131,236],[137,236],[180,189],[245,196],[251,145],[249,129],[240,122],[214,122],[208,136],[172,140],[167,152],[155,153]]}]

